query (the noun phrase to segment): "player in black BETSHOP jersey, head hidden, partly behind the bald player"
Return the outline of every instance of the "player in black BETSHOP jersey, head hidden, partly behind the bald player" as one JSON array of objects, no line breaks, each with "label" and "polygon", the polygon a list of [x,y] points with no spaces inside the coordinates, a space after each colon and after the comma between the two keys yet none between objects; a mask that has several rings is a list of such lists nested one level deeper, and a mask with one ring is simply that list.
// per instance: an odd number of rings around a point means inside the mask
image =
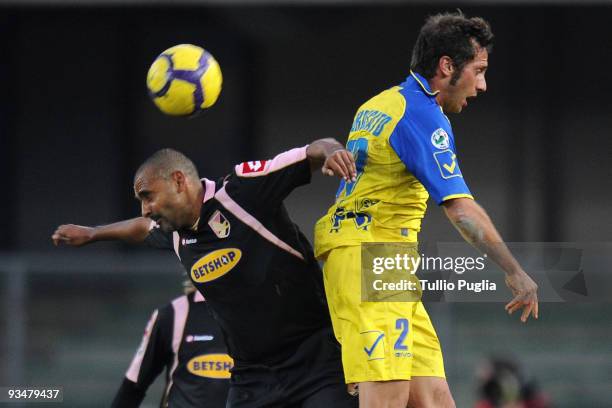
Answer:
[{"label": "player in black BETSHOP jersey, head hidden, partly behind the bald player", "polygon": [[166,369],[160,407],[224,408],[233,361],[201,293],[185,295],[153,312],[112,408],[139,407]]}]

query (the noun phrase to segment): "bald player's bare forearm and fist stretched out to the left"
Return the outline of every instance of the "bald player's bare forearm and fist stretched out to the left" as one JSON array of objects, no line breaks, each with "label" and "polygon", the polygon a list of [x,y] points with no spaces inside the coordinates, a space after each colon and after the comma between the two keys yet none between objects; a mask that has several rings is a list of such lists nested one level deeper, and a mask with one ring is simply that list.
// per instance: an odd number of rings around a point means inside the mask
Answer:
[{"label": "bald player's bare forearm and fist stretched out to the left", "polygon": [[65,224],[57,227],[51,239],[57,246],[82,246],[96,241],[143,242],[149,234],[151,220],[144,217],[119,221],[97,227]]}]

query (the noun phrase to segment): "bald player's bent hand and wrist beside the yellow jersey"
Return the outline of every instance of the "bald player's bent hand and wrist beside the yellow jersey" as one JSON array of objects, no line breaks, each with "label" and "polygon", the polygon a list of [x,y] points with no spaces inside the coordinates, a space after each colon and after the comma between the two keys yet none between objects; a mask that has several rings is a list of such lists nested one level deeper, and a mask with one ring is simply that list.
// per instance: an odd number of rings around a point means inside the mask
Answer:
[{"label": "bald player's bent hand and wrist beside the yellow jersey", "polygon": [[308,145],[306,155],[310,169],[321,169],[327,176],[338,176],[346,181],[357,180],[357,167],[353,154],[336,139],[319,139]]}]

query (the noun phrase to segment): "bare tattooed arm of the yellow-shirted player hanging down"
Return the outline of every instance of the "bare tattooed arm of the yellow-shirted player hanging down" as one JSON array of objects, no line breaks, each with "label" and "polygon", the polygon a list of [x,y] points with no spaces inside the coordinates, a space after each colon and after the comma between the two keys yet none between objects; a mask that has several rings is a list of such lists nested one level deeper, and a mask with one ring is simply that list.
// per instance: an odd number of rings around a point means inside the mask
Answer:
[{"label": "bare tattooed arm of the yellow-shirted player hanging down", "polygon": [[444,212],[463,238],[487,254],[506,273],[506,284],[514,298],[506,305],[508,313],[523,309],[521,321],[531,314],[538,318],[538,285],[516,261],[493,222],[474,200],[456,198],[442,203]]}]

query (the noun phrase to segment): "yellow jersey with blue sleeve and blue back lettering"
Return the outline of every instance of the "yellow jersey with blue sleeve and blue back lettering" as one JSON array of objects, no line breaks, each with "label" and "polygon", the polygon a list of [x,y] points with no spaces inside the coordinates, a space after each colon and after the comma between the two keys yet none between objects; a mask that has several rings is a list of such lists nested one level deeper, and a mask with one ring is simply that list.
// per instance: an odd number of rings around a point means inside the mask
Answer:
[{"label": "yellow jersey with blue sleeve and blue back lettering", "polygon": [[317,222],[317,257],[362,242],[416,242],[430,195],[438,204],[472,198],[436,95],[411,72],[357,110],[346,143],[357,180],[340,183],[334,205]]}]

